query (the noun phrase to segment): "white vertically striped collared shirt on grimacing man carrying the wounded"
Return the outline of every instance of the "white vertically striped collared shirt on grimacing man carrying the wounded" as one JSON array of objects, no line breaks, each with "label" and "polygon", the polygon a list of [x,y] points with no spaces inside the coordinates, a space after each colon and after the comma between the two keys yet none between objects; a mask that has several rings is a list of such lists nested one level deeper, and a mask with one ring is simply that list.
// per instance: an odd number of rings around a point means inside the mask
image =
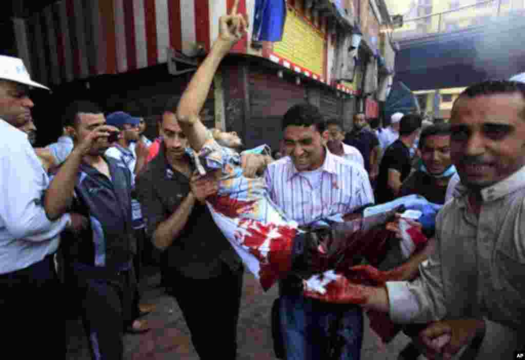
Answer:
[{"label": "white vertically striped collared shirt on grimacing man carrying the wounded", "polygon": [[270,198],[299,225],[335,214],[348,214],[374,203],[374,194],[362,166],[325,151],[321,181],[313,188],[297,171],[291,157],[268,165],[265,180]]}]

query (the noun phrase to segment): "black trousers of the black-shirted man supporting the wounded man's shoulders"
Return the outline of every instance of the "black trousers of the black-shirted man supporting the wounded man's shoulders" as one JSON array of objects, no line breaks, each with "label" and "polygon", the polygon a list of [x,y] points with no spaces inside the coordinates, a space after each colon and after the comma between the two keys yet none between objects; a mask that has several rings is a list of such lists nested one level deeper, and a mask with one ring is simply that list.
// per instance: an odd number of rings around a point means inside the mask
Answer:
[{"label": "black trousers of the black-shirted man supporting the wounded man's shoulders", "polygon": [[220,276],[205,280],[187,278],[171,269],[166,280],[201,360],[235,359],[243,269],[233,272],[223,263]]}]

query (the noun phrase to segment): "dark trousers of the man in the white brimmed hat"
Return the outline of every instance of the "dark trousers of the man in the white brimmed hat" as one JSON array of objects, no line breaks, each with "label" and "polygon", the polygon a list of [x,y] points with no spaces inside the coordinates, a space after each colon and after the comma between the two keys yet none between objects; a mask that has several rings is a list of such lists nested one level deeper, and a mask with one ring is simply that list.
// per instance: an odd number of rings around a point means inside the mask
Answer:
[{"label": "dark trousers of the man in the white brimmed hat", "polygon": [[0,274],[3,358],[66,358],[63,290],[52,255],[28,268]]}]

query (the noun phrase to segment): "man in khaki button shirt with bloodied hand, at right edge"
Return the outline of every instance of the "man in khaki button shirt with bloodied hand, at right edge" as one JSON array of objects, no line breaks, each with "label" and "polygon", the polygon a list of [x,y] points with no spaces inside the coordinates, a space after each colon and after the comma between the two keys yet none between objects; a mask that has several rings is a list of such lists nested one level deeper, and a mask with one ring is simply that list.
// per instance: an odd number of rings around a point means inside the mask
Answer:
[{"label": "man in khaki button shirt with bloodied hand, at right edge", "polygon": [[413,282],[343,281],[348,296],[338,302],[386,312],[398,323],[434,322],[419,334],[430,357],[465,351],[503,359],[525,347],[524,108],[519,82],[487,81],[461,93],[450,118],[461,185],[437,216],[435,251]]}]

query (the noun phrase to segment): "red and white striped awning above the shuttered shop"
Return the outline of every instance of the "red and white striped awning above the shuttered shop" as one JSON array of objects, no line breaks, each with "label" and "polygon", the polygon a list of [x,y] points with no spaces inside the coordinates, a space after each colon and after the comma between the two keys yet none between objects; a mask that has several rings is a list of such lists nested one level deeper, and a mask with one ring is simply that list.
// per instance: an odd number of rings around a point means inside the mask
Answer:
[{"label": "red and white striped awning above the shuttered shop", "polygon": [[[169,47],[201,44],[209,50],[218,18],[233,2],[62,0],[15,19],[16,41],[31,75],[56,85],[165,63]],[[239,12],[253,14],[254,6],[255,0],[240,0]],[[246,49],[245,38],[234,52]]]}]

